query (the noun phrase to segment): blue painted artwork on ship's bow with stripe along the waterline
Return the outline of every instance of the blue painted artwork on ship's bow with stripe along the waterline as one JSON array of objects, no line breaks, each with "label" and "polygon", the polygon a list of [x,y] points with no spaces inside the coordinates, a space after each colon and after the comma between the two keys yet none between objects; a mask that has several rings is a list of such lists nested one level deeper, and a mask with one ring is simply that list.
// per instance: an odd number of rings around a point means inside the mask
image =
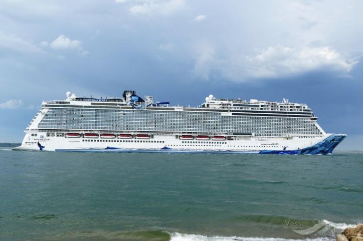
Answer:
[{"label": "blue painted artwork on ship's bow with stripe along the waterline", "polygon": [[121,149],[108,146],[104,149],[56,149],[59,152],[123,152],[123,153],[174,153],[174,154],[274,154],[274,155],[326,155],[331,154],[333,149],[346,137],[343,134],[333,134],[323,141],[298,150],[263,150],[263,151],[234,151],[234,150],[175,150],[170,147],[161,149]]}]

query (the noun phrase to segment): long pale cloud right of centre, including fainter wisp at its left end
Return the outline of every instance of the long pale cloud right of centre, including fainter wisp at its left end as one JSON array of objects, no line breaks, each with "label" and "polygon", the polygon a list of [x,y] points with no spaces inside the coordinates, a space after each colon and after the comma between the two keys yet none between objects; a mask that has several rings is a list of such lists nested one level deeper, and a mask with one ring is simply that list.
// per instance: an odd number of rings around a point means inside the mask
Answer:
[{"label": "long pale cloud right of centre, including fainter wisp at its left end", "polygon": [[358,63],[357,58],[343,55],[329,47],[274,46],[260,50],[254,56],[218,56],[215,48],[204,46],[198,49],[192,71],[193,77],[208,80],[214,70],[235,82],[247,81],[250,78],[296,76],[316,71],[348,77],[349,72]]}]

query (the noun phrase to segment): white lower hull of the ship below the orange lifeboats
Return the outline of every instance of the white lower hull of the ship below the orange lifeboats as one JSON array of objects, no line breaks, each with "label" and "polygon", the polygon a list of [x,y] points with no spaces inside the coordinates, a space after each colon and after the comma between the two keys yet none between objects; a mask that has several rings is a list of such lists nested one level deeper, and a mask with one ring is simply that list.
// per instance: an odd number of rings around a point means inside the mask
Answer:
[{"label": "white lower hull of the ship below the orange lifeboats", "polygon": [[[34,132],[32,132],[34,133]],[[235,137],[235,140],[180,140],[174,135],[154,135],[149,139],[92,139],[92,138],[64,138],[45,137],[46,132],[38,132],[37,137],[26,133],[23,143],[15,150],[40,150],[38,142],[45,151],[56,150],[105,150],[114,148],[121,150],[173,150],[195,151],[233,151],[249,152],[262,150],[297,150],[313,146],[332,134],[321,137]],[[39,138],[43,137],[43,138]]]}]

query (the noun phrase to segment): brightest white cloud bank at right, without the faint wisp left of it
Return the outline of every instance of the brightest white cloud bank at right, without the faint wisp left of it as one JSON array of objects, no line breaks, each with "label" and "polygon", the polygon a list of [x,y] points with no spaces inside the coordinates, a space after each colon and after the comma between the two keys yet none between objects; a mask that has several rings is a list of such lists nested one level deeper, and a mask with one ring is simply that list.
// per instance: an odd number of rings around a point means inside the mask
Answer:
[{"label": "brightest white cloud bank at right, without the faint wisp left of it", "polygon": [[[349,73],[357,60],[344,56],[329,47],[289,48],[269,47],[253,57],[246,56],[246,74],[255,78],[281,77],[329,71],[341,74]],[[242,67],[241,66],[241,67]]]}]

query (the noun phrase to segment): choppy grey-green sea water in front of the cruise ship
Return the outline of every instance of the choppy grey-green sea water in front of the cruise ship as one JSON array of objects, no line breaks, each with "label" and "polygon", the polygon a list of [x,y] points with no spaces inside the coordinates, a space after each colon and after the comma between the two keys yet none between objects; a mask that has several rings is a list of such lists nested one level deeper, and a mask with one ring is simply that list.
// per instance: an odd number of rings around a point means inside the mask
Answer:
[{"label": "choppy grey-green sea water in front of the cruise ship", "polygon": [[329,241],[363,222],[362,171],[359,152],[0,148],[0,240]]}]

